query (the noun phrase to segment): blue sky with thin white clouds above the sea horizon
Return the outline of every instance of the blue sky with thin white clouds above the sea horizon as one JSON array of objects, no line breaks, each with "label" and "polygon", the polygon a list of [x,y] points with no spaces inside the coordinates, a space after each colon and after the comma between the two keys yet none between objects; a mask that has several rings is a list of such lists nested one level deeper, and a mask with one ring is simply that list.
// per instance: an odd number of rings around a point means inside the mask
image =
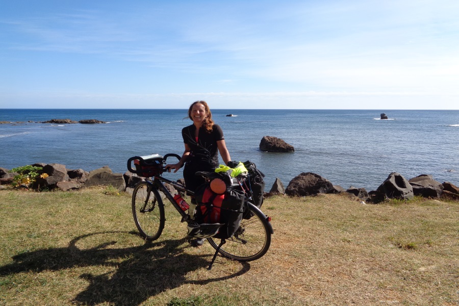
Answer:
[{"label": "blue sky with thin white clouds above the sea horizon", "polygon": [[459,1],[0,3],[0,108],[459,109]]}]

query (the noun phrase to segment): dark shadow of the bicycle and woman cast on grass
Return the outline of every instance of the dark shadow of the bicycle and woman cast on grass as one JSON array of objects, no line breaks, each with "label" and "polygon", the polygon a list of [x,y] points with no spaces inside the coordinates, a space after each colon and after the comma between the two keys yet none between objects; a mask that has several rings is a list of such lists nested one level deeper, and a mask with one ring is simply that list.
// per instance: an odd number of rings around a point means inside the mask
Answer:
[{"label": "dark shadow of the bicycle and woman cast on grass", "polygon": [[[210,256],[185,253],[184,249],[189,247],[185,238],[119,247],[118,242],[113,240],[113,234],[138,235],[133,232],[92,233],[73,239],[68,247],[24,252],[14,256],[13,263],[0,267],[0,276],[75,267],[91,271],[94,267],[94,273],[80,275],[89,285],[71,302],[87,305],[107,302],[134,306],[151,296],[183,284],[205,285],[223,281],[242,275],[250,269],[248,263],[241,263],[241,269],[232,275],[200,281],[188,280],[186,275],[189,272],[209,266]],[[102,243],[101,239],[96,239],[97,245],[91,246],[93,242],[90,240],[96,235],[107,235],[107,239],[102,239],[105,240]],[[89,240],[89,243],[84,243],[84,240]]]}]

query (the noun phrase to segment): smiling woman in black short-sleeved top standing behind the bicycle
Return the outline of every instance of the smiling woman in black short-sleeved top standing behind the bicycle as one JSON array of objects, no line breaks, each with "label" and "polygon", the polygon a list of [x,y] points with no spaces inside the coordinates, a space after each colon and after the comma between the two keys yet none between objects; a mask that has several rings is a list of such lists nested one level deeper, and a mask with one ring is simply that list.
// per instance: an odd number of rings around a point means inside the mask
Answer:
[{"label": "smiling woman in black short-sleeved top standing behind the bicycle", "polygon": [[[188,109],[188,117],[193,124],[182,129],[183,142],[185,151],[182,158],[176,164],[166,165],[169,171],[174,169],[177,172],[185,165],[183,176],[185,186],[191,191],[205,183],[203,177],[195,175],[197,171],[214,171],[218,166],[218,152],[225,165],[231,161],[230,152],[226,148],[223,131],[218,124],[212,120],[212,113],[206,101],[196,101]],[[195,199],[192,197],[191,209],[195,207]],[[195,244],[203,243],[199,240]]]}]

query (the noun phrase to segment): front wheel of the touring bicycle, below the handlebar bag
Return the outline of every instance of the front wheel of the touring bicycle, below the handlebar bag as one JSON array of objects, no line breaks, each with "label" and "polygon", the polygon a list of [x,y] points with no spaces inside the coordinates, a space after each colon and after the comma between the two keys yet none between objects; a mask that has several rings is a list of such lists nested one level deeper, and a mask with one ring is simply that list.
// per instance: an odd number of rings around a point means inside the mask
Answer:
[{"label": "front wheel of the touring bicycle, below the handlebar bag", "polygon": [[148,241],[161,236],[164,228],[164,205],[158,189],[140,182],[132,193],[132,214],[140,235]]}]

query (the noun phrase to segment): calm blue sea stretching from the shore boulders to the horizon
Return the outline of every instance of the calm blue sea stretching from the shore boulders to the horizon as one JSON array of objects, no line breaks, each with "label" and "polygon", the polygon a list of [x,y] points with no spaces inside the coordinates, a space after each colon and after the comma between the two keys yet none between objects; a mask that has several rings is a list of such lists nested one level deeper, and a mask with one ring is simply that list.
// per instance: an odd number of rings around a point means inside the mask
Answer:
[{"label": "calm blue sea stretching from the shore boulders to the horizon", "polygon": [[[380,113],[388,120],[380,120]],[[254,162],[269,191],[276,177],[287,187],[301,172],[343,188],[376,189],[391,172],[406,179],[431,174],[459,185],[459,111],[212,110],[233,160]],[[227,117],[227,114],[234,114]],[[69,118],[106,124],[36,123]],[[0,109],[0,167],[59,163],[90,171],[108,165],[125,172],[132,156],[182,155],[187,110]],[[33,121],[29,123],[28,121]],[[263,136],[294,146],[290,153],[259,149]],[[175,162],[171,159],[170,162]],[[181,171],[167,173],[179,179]]]}]

